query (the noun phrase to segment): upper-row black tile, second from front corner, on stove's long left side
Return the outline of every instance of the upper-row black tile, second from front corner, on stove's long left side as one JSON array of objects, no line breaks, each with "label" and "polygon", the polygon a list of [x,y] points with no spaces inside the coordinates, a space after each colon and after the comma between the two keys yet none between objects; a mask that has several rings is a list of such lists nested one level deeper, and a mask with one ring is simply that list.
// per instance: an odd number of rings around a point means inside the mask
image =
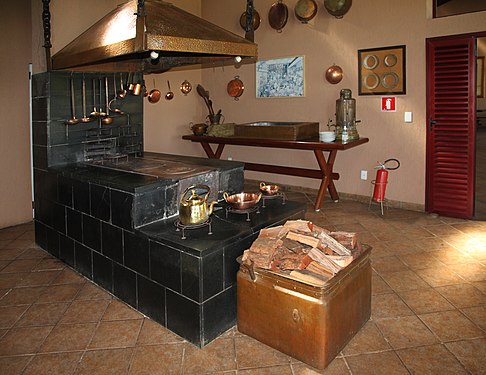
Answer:
[{"label": "upper-row black tile, second from front corner, on stove's long left side", "polygon": [[181,252],[150,241],[150,277],[176,292],[181,291]]}]

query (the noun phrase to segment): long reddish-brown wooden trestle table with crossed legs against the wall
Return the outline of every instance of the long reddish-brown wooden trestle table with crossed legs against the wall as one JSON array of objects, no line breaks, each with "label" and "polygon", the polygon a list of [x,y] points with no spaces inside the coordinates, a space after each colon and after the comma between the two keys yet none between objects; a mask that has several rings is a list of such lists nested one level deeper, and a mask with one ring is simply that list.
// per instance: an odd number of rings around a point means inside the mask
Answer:
[{"label": "long reddish-brown wooden trestle table with crossed legs against the wall", "polygon": [[[298,167],[284,167],[278,165],[269,164],[255,164],[246,163],[245,169],[250,171],[285,174],[299,177],[317,178],[321,180],[319,192],[317,194],[314,209],[319,211],[326,190],[329,190],[329,195],[332,200],[337,202],[339,195],[336,187],[334,186],[334,180],[339,179],[339,174],[333,171],[334,161],[336,160],[337,152],[339,150],[348,150],[350,148],[359,146],[368,142],[368,138],[360,138],[355,141],[340,143],[324,143],[319,142],[317,139],[310,139],[304,141],[284,141],[277,139],[260,139],[260,138],[240,138],[240,137],[212,137],[212,136],[197,136],[197,135],[184,135],[182,139],[199,142],[203,147],[206,155],[210,159],[219,159],[223,153],[224,146],[226,145],[238,145],[238,146],[253,146],[253,147],[270,147],[270,148],[287,148],[292,150],[311,150],[317,159],[319,169],[307,169]],[[216,151],[213,151],[210,144],[217,144]],[[324,152],[328,152],[327,159]]]}]

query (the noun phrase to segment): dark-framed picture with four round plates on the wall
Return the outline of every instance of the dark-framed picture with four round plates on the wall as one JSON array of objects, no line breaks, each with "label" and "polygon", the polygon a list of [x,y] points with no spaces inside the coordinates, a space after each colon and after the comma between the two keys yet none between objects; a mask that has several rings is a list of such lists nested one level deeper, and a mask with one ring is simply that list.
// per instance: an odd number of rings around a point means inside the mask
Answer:
[{"label": "dark-framed picture with four round plates on the wall", "polygon": [[406,94],[405,46],[358,50],[358,94]]}]

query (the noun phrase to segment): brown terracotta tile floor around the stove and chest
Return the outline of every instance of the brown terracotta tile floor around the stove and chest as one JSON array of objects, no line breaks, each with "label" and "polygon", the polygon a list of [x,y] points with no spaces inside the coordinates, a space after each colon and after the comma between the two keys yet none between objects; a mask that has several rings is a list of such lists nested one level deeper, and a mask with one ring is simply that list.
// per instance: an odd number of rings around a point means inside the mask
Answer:
[{"label": "brown terracotta tile floor around the stove and chest", "polygon": [[304,199],[373,246],[372,318],[324,371],[236,328],[194,347],[37,248],[29,223],[0,230],[0,374],[486,374],[486,222]]}]

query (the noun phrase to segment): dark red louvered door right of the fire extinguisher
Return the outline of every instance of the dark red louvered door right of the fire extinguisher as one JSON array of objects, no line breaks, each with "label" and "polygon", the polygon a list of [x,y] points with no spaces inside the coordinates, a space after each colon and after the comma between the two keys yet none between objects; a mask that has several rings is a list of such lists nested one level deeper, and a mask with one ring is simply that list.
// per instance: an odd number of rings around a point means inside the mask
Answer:
[{"label": "dark red louvered door right of the fire extinguisher", "polygon": [[475,38],[427,41],[427,212],[472,218]]}]

